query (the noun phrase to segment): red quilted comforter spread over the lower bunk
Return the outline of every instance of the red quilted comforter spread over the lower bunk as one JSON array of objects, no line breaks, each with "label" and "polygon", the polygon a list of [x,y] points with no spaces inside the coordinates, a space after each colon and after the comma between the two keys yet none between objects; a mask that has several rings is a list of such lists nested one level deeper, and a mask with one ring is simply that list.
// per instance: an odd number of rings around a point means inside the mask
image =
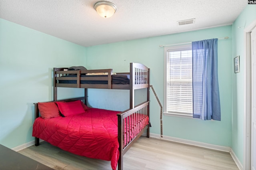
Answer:
[{"label": "red quilted comforter spread over the lower bunk", "polygon": [[[118,113],[91,108],[75,116],[51,119],[38,117],[33,125],[32,136],[74,154],[111,161],[112,169],[116,170],[119,158]],[[140,125],[134,126],[134,130],[129,130],[130,138],[136,135],[137,128],[148,124],[148,117],[144,117],[143,123],[139,122]]]}]

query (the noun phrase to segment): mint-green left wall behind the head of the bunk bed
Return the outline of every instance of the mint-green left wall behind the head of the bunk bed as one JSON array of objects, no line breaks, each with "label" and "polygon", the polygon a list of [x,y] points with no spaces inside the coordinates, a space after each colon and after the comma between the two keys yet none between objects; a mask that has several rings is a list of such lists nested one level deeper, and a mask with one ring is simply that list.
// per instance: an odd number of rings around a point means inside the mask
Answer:
[{"label": "mint-green left wall behind the head of the bunk bed", "polygon": [[[33,103],[52,100],[52,68],[84,62],[85,47],[0,19],[0,144],[33,141]],[[66,98],[81,89],[60,91]]]}]

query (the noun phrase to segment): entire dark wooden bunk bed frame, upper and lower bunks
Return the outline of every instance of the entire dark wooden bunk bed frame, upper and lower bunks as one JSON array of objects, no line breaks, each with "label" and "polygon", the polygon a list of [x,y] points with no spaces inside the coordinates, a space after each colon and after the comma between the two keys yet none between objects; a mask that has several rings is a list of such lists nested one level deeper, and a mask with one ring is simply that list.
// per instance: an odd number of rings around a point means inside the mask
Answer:
[{"label": "entire dark wooden bunk bed frame, upper and lower bunks", "polygon": [[[123,169],[123,156],[128,151],[128,149],[132,146],[134,142],[143,134],[144,130],[146,130],[146,136],[149,137],[149,127],[150,123],[143,127],[142,129],[138,129],[138,134],[131,138],[130,141],[126,141],[124,143],[124,138],[130,138],[130,134],[125,134],[125,130],[129,130],[127,128],[130,127],[134,118],[132,118],[134,113],[142,113],[146,114],[149,117],[149,103],[150,103],[150,69],[143,64],[140,63],[130,63],[130,72],[129,73],[116,73],[116,74],[129,74],[130,75],[130,84],[122,85],[122,84],[112,84],[112,69],[97,69],[97,70],[75,70],[75,71],[64,71],[68,68],[54,68],[54,101],[57,101],[57,88],[58,87],[73,87],[73,88],[84,88],[84,97],[61,100],[61,101],[73,101],[73,100],[83,100],[85,104],[87,104],[87,94],[88,88],[94,89],[126,89],[130,90],[130,109],[119,113],[118,116],[118,143],[119,143],[119,159],[118,159],[118,170]],[[108,73],[106,77],[80,77],[81,74],[86,73]],[[76,77],[62,77],[67,74],[76,74]],[[138,81],[138,76],[142,81]],[[58,83],[58,80],[76,80],[75,84],[68,83]],[[108,81],[107,84],[82,84],[81,80],[95,80],[95,81]],[[147,88],[147,101],[144,103],[140,103],[139,105],[134,106],[134,91],[136,89],[144,89]],[[35,103],[35,118],[39,117],[38,105]],[[129,120],[127,122],[127,118]],[[135,121],[134,121],[135,122]],[[126,129],[125,129],[126,128]],[[126,136],[124,136],[126,135]],[[127,136],[128,135],[128,136]],[[35,138],[36,145],[39,145],[39,138]]]}]

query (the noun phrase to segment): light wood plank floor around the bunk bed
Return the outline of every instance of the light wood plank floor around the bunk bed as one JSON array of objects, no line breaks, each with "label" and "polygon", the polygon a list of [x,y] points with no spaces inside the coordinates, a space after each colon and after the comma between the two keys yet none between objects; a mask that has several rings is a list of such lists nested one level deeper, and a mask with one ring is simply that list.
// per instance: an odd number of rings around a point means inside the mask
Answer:
[{"label": "light wood plank floor around the bunk bed", "polygon": [[[77,156],[47,142],[20,150],[46,166],[64,170],[110,170],[110,161]],[[227,152],[141,136],[124,155],[124,170],[238,170]]]}]

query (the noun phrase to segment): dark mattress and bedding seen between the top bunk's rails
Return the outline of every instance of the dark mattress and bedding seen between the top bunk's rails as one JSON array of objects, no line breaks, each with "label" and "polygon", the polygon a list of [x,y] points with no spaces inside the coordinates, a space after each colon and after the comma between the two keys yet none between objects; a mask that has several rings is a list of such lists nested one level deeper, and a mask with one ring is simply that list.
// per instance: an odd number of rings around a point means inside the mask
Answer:
[{"label": "dark mattress and bedding seen between the top bunk's rails", "polygon": [[[62,77],[76,77],[76,75],[65,75]],[[81,75],[81,77],[108,77],[108,75]],[[76,84],[76,80],[59,80],[59,83]],[[108,81],[81,80],[81,84],[108,84]],[[130,75],[112,75],[112,84],[130,84]]]}]

